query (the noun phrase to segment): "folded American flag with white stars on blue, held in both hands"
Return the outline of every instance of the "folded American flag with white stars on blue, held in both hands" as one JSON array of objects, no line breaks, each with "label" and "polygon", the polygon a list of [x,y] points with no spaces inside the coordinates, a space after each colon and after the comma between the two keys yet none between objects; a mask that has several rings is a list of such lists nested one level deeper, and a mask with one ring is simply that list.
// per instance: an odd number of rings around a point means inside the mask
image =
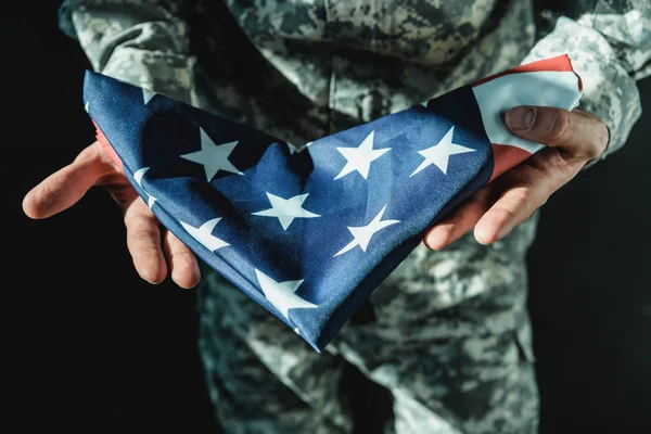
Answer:
[{"label": "folded American flag with white stars on blue, held in both hands", "polygon": [[100,74],[84,92],[98,137],[161,222],[317,350],[434,222],[542,148],[503,126],[508,108],[571,110],[579,98],[562,55],[296,151]]}]

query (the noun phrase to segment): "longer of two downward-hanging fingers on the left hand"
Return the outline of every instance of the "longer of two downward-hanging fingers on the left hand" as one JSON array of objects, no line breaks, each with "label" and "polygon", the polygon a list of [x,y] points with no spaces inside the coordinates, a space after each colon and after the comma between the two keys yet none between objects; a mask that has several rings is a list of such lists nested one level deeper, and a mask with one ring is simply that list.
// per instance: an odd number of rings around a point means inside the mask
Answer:
[{"label": "longer of two downward-hanging fingers on the left hand", "polygon": [[150,283],[161,283],[167,276],[167,264],[161,250],[158,220],[140,197],[127,205],[125,225],[136,271]]}]

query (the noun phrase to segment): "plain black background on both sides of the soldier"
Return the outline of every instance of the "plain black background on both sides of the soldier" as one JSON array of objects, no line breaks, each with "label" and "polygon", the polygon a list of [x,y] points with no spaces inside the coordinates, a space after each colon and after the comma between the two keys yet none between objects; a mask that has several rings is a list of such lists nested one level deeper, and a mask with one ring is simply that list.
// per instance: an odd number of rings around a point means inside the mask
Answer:
[{"label": "plain black background on both sides of the soldier", "polygon": [[[58,3],[0,15],[3,412],[25,430],[216,433],[194,293],[137,277],[107,193],[44,221],[22,214],[93,140],[88,63]],[[651,110],[651,79],[639,87]],[[544,208],[528,255],[542,433],[651,432],[649,119]]]}]

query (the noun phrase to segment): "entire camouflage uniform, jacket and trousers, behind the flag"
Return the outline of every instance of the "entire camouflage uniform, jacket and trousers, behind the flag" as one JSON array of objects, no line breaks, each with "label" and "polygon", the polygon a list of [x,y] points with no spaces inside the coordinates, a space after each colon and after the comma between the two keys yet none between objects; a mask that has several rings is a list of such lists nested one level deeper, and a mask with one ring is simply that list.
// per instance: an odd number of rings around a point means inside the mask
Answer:
[{"label": "entire camouflage uniform, jacket and trousers, behind the flag", "polygon": [[[541,4],[548,9],[544,9]],[[95,71],[301,145],[520,63],[567,52],[582,108],[621,148],[651,73],[651,2],[72,0]],[[566,3],[566,2],[562,2]],[[342,372],[391,391],[387,432],[533,433],[525,254],[537,214],[490,246],[419,246],[319,355],[204,269],[200,349],[227,433],[348,433]]]}]

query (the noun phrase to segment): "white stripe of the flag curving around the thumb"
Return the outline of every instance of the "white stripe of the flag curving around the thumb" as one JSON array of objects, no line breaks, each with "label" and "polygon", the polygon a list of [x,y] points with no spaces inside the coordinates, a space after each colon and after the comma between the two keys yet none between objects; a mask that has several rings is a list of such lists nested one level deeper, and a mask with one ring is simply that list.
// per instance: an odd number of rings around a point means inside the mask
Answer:
[{"label": "white stripe of the flag curving around the thumb", "polygon": [[548,105],[572,110],[578,105],[578,77],[573,72],[539,71],[497,77],[473,87],[490,143],[510,144],[532,154],[542,145],[514,136],[500,117],[515,105]]}]

